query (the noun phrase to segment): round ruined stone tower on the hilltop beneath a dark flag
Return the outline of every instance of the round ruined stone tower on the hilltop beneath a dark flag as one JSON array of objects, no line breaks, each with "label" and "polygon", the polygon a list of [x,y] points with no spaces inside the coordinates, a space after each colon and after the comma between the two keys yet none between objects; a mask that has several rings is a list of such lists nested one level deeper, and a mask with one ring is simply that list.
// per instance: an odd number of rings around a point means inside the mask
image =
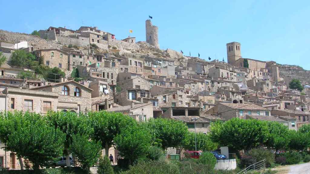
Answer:
[{"label": "round ruined stone tower on the hilltop beneath a dark flag", "polygon": [[145,21],[146,42],[159,48],[158,44],[158,27],[152,25],[151,20]]}]

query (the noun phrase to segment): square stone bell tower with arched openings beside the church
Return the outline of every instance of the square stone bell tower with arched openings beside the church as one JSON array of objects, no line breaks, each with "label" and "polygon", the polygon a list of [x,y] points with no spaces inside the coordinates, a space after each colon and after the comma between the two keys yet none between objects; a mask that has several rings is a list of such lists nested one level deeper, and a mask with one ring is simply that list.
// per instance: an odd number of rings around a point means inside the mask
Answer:
[{"label": "square stone bell tower with arched openings beside the church", "polygon": [[226,44],[226,49],[227,49],[227,62],[232,65],[235,65],[236,61],[242,58],[241,44],[238,42],[230,42]]}]

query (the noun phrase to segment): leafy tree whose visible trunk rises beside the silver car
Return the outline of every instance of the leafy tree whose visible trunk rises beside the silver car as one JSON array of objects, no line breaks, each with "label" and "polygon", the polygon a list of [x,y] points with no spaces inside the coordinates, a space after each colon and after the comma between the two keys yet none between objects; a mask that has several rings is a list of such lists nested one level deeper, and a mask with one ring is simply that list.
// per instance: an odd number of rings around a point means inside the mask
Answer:
[{"label": "leafy tree whose visible trunk rises beside the silver car", "polygon": [[77,115],[73,112],[54,112],[50,111],[46,114],[47,123],[55,127],[55,129],[60,129],[65,135],[64,141],[64,155],[66,156],[66,164],[70,166],[69,159],[69,147],[72,145],[72,137],[78,133],[84,133],[90,135],[92,129],[87,123],[87,118],[84,115]]}]

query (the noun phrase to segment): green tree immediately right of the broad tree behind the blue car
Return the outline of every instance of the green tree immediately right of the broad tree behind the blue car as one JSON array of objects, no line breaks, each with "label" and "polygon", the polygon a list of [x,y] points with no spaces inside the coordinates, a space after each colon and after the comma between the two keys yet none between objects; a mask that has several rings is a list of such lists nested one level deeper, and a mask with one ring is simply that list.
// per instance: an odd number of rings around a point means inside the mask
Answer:
[{"label": "green tree immediately right of the broad tree behind the blue car", "polygon": [[274,148],[276,151],[286,148],[289,143],[287,126],[273,121],[268,121],[267,126],[269,134],[265,143],[266,146]]}]

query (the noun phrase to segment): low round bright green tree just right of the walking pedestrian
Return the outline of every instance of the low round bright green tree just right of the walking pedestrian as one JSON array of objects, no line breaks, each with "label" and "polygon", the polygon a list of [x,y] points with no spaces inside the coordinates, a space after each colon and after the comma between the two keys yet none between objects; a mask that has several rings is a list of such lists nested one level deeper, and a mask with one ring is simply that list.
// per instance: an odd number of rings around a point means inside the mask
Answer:
[{"label": "low round bright green tree just right of the walking pedestrian", "polygon": [[114,138],[114,141],[120,155],[125,159],[129,159],[129,163],[133,164],[136,159],[146,156],[151,145],[151,136],[147,130],[135,123],[124,128]]}]

